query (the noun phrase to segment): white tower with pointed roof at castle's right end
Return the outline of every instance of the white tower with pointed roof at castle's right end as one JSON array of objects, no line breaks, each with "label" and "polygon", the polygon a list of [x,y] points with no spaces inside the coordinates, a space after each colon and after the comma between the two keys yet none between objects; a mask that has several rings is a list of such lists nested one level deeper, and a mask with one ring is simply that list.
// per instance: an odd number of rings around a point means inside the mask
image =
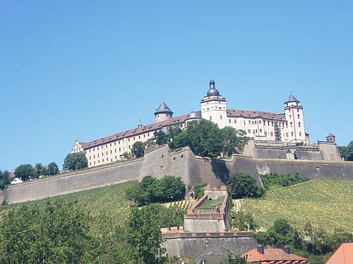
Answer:
[{"label": "white tower with pointed roof at castle's right end", "polygon": [[292,94],[285,102],[285,117],[285,139],[292,143],[306,144],[303,106]]}]

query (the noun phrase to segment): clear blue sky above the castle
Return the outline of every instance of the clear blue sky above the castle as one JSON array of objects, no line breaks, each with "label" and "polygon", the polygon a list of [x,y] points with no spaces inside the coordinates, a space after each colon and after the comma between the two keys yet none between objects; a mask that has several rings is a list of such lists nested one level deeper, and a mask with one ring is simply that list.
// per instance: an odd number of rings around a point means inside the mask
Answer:
[{"label": "clear blue sky above the castle", "polygon": [[353,140],[353,1],[0,1],[0,170],[200,109],[282,113],[292,87],[311,142]]}]

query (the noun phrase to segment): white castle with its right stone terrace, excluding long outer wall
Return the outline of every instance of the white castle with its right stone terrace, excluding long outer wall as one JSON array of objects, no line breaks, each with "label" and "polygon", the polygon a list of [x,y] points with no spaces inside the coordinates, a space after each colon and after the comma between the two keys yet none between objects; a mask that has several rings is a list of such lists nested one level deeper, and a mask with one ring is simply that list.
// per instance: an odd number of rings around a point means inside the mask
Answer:
[{"label": "white castle with its right stone terrace, excluding long outer wall", "polygon": [[76,140],[71,153],[84,152],[89,167],[114,163],[124,159],[135,142],[154,138],[154,132],[167,131],[169,125],[185,128],[187,123],[201,118],[215,122],[218,127],[244,130],[251,141],[244,154],[255,158],[285,158],[340,161],[335,136],[329,134],[325,142],[310,145],[304,124],[304,111],[300,101],[292,94],[284,104],[283,113],[249,111],[227,108],[226,99],[210,80],[207,94],[201,99],[201,110],[173,118],[173,111],[164,101],[155,111],[155,123],[138,126],[91,142]]}]

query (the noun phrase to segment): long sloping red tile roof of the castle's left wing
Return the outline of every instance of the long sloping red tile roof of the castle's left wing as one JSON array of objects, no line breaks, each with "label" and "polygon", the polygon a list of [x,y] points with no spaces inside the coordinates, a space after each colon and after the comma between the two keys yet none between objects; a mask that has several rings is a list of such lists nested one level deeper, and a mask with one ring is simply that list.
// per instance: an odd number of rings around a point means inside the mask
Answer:
[{"label": "long sloping red tile roof of the castle's left wing", "polygon": [[131,136],[138,135],[138,134],[144,134],[147,132],[161,129],[162,127],[166,127],[168,125],[173,125],[173,124],[177,124],[179,122],[184,122],[185,119],[186,119],[186,115],[180,115],[177,118],[164,120],[162,122],[155,122],[153,124],[145,125],[143,127],[136,127],[132,130],[126,130],[124,132],[112,134],[108,137],[103,137],[102,139],[93,140],[92,142],[80,142],[80,145],[83,147],[83,149],[90,149],[94,146],[100,146],[103,144],[107,144],[109,142],[114,142],[118,139],[123,139],[124,137],[131,137]]}]

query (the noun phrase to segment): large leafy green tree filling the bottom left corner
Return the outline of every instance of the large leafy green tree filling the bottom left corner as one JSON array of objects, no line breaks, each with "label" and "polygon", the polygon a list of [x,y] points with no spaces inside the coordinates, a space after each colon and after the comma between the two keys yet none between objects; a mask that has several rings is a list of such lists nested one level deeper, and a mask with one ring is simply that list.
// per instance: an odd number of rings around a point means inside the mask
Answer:
[{"label": "large leafy green tree filling the bottom left corner", "polygon": [[1,218],[0,263],[80,263],[91,255],[91,218],[75,201],[23,205]]}]

